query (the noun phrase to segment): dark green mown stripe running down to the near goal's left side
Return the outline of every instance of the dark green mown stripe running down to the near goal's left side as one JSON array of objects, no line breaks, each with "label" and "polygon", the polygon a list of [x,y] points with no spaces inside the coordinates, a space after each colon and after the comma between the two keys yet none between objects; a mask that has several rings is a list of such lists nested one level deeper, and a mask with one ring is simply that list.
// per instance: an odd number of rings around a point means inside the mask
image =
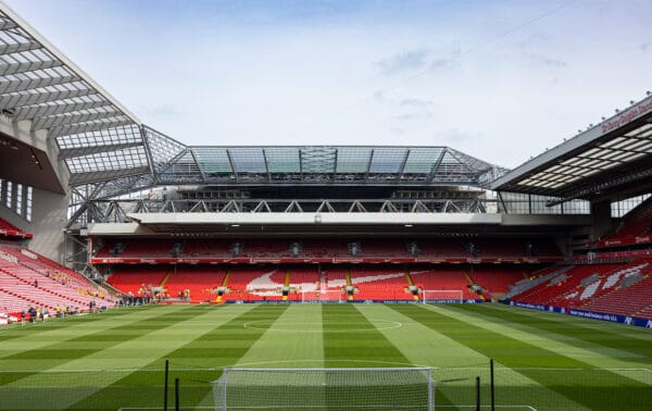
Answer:
[{"label": "dark green mown stripe running down to the near goal's left side", "polygon": [[[183,386],[184,407],[211,407],[211,382],[222,374],[222,368],[235,364],[264,332],[248,332],[243,324],[260,319],[275,319],[286,307],[267,311],[255,306],[227,306],[223,309],[209,308],[203,317],[196,317],[190,329],[191,339],[174,350],[159,356],[142,366],[141,372],[120,378],[95,395],[76,403],[73,409],[95,409],[98,404],[111,404],[106,409],[121,407],[156,407],[162,403],[164,363],[171,362],[170,381],[179,378]],[[215,310],[220,312],[215,313]],[[213,312],[213,313],[212,313]],[[204,326],[199,324],[205,323]],[[180,324],[183,325],[183,324]],[[178,338],[188,328],[175,329],[168,338]],[[170,396],[173,390],[171,387]]]}]

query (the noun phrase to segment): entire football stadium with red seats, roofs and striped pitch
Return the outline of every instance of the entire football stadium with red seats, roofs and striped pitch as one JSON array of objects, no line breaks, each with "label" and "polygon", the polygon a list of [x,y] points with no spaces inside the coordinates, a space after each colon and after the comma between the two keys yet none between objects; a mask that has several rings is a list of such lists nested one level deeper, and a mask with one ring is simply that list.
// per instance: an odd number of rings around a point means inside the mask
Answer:
[{"label": "entire football stadium with red seats, roofs and striped pitch", "polygon": [[192,145],[0,2],[0,410],[649,410],[642,95],[510,170]]}]

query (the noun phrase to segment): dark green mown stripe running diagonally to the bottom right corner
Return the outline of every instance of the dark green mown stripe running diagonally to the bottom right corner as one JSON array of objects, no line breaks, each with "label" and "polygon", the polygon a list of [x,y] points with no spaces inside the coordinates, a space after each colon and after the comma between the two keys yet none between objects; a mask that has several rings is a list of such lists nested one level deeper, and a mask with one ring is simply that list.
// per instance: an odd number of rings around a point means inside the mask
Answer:
[{"label": "dark green mown stripe running diagonally to the bottom right corner", "polygon": [[627,409],[644,409],[644,404],[651,403],[649,386],[609,371],[592,373],[591,379],[595,381],[580,381],[582,374],[579,373],[547,372],[546,368],[591,366],[546,348],[459,320],[447,312],[447,308],[434,310],[429,307],[410,306],[400,307],[398,310],[415,320],[421,319],[422,323],[429,326],[437,327],[438,321],[452,323],[454,326],[438,327],[438,331],[505,366],[517,368],[518,373],[591,410],[613,410],[623,404],[627,404]]}]

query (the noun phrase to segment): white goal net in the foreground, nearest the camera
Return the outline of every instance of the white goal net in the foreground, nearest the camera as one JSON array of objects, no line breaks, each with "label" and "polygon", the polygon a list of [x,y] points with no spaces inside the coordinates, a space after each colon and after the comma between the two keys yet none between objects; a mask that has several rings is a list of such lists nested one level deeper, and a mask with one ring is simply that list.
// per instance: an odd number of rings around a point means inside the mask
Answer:
[{"label": "white goal net in the foreground, nearest the camera", "polygon": [[429,368],[224,369],[215,410],[435,409]]}]

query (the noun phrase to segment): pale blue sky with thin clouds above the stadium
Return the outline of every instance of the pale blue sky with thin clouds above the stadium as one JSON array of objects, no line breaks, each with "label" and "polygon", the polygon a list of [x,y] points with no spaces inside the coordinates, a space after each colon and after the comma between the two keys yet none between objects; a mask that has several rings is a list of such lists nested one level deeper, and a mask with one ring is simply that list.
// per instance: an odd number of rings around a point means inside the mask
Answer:
[{"label": "pale blue sky with thin clouds above the stadium", "polygon": [[513,167],[652,89],[652,0],[5,0],[193,145],[447,145]]}]

